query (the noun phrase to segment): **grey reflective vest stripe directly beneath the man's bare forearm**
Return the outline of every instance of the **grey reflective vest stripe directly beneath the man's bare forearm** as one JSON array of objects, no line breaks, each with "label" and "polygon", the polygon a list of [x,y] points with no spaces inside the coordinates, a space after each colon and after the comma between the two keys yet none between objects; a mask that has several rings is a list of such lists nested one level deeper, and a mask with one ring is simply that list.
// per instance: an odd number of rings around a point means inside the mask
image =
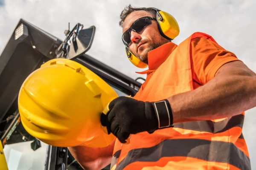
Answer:
[{"label": "grey reflective vest stripe directly beneath the man's bare forearm", "polygon": [[224,132],[231,127],[243,127],[244,115],[239,114],[229,119],[224,119],[220,122],[207,121],[195,121],[195,122],[183,122],[183,123],[174,123],[174,127],[179,127],[189,130],[198,130],[211,133],[220,133]]}]

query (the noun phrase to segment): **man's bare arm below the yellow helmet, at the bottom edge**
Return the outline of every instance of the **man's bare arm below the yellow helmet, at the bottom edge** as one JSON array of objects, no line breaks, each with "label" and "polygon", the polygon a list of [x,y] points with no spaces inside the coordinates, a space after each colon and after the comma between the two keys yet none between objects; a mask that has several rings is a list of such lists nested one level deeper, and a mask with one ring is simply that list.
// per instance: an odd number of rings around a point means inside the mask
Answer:
[{"label": "man's bare arm below the yellow helmet, at the bottom edge", "polygon": [[99,170],[111,163],[115,140],[107,147],[68,147],[70,153],[84,170]]}]

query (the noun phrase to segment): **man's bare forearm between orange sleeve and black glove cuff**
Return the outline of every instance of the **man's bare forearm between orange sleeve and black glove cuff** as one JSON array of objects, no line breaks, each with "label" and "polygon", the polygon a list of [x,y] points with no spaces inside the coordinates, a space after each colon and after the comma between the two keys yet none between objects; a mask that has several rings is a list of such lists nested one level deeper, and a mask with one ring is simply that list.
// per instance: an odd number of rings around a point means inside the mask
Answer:
[{"label": "man's bare forearm between orange sleeve and black glove cuff", "polygon": [[256,106],[256,74],[241,61],[228,62],[205,85],[168,101],[175,123],[234,116]]}]

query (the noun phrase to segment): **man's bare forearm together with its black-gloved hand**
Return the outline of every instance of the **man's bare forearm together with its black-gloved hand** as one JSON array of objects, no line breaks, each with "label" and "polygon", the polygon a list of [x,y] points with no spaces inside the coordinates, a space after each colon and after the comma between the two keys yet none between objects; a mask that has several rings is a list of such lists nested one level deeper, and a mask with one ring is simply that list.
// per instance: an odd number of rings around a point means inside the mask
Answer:
[{"label": "man's bare forearm together with its black-gloved hand", "polygon": [[[103,124],[125,143],[130,134],[151,133],[160,125],[234,116],[256,106],[256,74],[241,61],[227,62],[205,85],[167,100],[166,106],[158,108],[155,102],[118,97],[109,104],[110,111]],[[166,116],[170,113],[173,119],[169,122]]]}]

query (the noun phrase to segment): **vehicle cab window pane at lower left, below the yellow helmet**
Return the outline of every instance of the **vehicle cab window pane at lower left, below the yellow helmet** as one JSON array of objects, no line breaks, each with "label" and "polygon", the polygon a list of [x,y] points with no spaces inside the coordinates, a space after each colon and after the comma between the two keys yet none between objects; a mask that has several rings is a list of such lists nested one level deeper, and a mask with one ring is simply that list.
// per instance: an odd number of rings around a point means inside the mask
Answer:
[{"label": "vehicle cab window pane at lower left, below the yellow helmet", "polygon": [[3,148],[9,170],[44,170],[47,146],[30,136],[19,123],[10,130]]}]

